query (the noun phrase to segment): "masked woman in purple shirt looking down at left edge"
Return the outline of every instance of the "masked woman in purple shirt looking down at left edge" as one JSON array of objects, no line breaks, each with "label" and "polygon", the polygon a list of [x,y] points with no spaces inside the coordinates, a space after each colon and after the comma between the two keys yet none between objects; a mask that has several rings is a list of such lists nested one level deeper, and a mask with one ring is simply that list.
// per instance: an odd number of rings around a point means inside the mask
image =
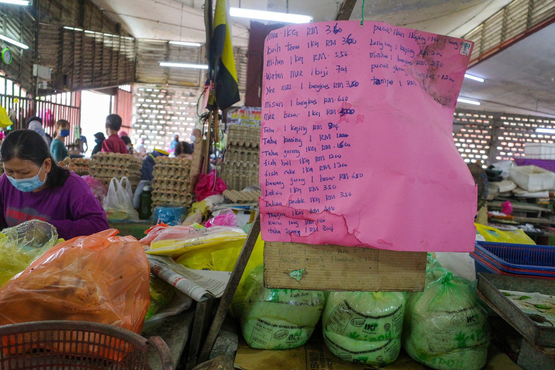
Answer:
[{"label": "masked woman in purple shirt looking down at left edge", "polygon": [[108,229],[106,213],[87,183],[58,166],[38,133],[10,133],[0,147],[0,161],[0,228],[37,218],[66,240]]}]

